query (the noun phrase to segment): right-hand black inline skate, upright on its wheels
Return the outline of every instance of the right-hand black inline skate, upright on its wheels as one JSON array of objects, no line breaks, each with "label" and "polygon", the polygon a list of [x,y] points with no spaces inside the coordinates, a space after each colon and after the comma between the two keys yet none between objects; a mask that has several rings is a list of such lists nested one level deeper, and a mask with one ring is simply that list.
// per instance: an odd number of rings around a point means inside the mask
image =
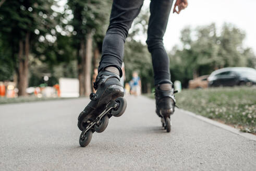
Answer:
[{"label": "right-hand black inline skate, upright on its wheels", "polygon": [[155,87],[156,114],[161,117],[162,126],[170,132],[172,125],[170,115],[174,113],[175,97],[173,85],[170,83],[159,84]]}]

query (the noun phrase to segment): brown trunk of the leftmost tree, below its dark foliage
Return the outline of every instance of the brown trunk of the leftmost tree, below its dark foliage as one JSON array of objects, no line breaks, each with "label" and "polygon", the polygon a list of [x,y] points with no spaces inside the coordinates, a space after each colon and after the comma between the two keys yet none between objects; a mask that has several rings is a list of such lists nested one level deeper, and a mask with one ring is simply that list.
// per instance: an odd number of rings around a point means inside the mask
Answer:
[{"label": "brown trunk of the leftmost tree, below its dark foliage", "polygon": [[[18,95],[27,95],[26,89],[28,88],[28,75],[29,75],[29,37],[30,34],[26,34],[25,42],[19,41],[19,54],[18,54]],[[25,46],[24,46],[25,43]]]}]

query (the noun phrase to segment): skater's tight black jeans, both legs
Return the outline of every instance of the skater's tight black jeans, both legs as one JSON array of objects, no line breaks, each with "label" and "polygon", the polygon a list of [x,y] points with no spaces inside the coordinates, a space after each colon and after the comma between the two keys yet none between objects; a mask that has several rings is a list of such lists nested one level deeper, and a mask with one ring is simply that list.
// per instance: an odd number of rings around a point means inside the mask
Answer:
[{"label": "skater's tight black jeans, both legs", "polygon": [[[152,55],[155,85],[171,83],[169,57],[163,46],[173,0],[151,0],[147,45]],[[102,58],[99,71],[108,66],[115,66],[122,75],[121,65],[124,60],[124,44],[133,19],[140,13],[143,0],[114,0],[109,26],[103,41]]]}]

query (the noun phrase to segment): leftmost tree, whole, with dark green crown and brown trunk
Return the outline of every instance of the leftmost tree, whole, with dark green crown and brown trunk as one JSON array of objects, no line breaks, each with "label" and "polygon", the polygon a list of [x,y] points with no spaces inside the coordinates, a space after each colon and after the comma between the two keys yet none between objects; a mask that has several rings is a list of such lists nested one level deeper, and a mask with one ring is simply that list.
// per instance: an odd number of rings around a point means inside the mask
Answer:
[{"label": "leftmost tree, whole, with dark green crown and brown trunk", "polygon": [[31,46],[38,40],[45,40],[46,35],[51,35],[49,30],[54,28],[53,4],[53,0],[6,1],[0,8],[0,32],[2,40],[10,47],[18,76],[18,95],[26,95]]}]

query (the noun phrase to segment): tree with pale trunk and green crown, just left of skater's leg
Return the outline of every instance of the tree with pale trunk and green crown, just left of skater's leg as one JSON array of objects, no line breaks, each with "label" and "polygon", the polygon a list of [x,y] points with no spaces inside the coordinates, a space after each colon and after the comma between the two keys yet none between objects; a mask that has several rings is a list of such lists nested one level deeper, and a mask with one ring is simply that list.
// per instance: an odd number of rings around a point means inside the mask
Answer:
[{"label": "tree with pale trunk and green crown, just left of skater's leg", "polygon": [[72,10],[74,18],[69,25],[74,27],[74,46],[77,50],[78,59],[78,79],[80,95],[91,93],[91,64],[93,35],[104,28],[107,10],[110,1],[68,1],[68,6]]}]

